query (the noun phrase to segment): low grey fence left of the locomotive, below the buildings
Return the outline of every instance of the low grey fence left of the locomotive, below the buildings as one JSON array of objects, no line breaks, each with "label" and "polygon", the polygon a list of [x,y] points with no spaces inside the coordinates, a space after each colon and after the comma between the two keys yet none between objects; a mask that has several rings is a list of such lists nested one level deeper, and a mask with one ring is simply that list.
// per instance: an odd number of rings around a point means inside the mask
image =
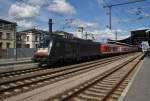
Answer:
[{"label": "low grey fence left of the locomotive, below the buildings", "polygon": [[0,59],[32,57],[36,48],[8,48],[0,49]]}]

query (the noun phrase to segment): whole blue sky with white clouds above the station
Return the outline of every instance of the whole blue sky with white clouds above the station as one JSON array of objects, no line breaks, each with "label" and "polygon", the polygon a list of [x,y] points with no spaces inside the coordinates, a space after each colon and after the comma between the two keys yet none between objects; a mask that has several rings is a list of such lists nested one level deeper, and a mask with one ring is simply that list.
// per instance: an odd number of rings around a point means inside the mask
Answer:
[{"label": "whole blue sky with white clouds above the station", "polygon": [[[112,7],[112,30],[108,8],[103,6],[137,0],[0,0],[0,19],[17,22],[18,30],[38,28],[76,33],[78,27],[93,33],[96,41],[130,36],[130,31],[150,28],[150,0]],[[139,0],[140,1],[140,0]]]}]

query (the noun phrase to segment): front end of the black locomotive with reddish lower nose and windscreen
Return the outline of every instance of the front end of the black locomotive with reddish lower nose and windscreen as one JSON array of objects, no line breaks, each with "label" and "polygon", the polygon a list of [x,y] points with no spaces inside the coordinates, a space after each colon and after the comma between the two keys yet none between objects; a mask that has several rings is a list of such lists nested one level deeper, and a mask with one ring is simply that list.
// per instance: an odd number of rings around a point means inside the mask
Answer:
[{"label": "front end of the black locomotive with reddish lower nose and windscreen", "polygon": [[50,36],[44,37],[44,39],[40,42],[36,52],[34,53],[33,60],[39,64],[48,64],[50,62],[52,45],[52,38]]}]

